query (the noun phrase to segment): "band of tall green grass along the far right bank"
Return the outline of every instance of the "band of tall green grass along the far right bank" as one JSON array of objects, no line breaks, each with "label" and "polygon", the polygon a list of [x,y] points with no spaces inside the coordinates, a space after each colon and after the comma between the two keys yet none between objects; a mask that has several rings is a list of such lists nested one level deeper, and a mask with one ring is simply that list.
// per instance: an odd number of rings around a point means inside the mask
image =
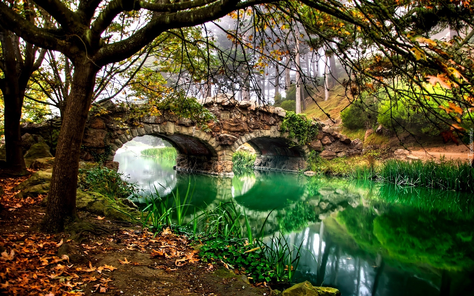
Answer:
[{"label": "band of tall green grass along the far right bank", "polygon": [[386,161],[378,170],[379,179],[405,186],[426,186],[474,192],[474,168],[467,162]]}]

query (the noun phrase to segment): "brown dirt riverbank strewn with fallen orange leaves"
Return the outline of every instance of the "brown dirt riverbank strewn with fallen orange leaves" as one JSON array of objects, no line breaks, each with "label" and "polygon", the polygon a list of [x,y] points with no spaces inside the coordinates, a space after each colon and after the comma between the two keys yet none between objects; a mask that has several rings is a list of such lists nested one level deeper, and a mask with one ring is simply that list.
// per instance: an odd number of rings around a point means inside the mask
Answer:
[{"label": "brown dirt riverbank strewn with fallen orange leaves", "polygon": [[[2,186],[6,184],[2,180]],[[6,194],[11,195],[7,187]],[[45,234],[42,197],[1,212],[1,287],[8,295],[270,295],[219,265],[203,263],[185,236],[154,236],[129,223],[79,211],[103,235]],[[33,294],[31,294],[33,293]]]}]

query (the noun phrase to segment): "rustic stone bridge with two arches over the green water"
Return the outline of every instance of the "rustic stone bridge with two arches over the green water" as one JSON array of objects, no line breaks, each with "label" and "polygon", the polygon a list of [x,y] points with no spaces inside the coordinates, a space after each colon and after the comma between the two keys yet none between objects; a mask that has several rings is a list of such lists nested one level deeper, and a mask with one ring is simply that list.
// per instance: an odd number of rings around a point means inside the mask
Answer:
[{"label": "rustic stone bridge with two arches over the green water", "polygon": [[[125,117],[125,110],[108,101],[101,104],[106,115],[90,116],[82,139],[83,161],[113,161],[115,152],[134,137],[154,135],[177,149],[176,170],[210,174],[232,172],[232,155],[237,148],[250,144],[257,152],[257,169],[298,171],[306,170],[306,159],[311,150],[322,151],[321,156],[334,158],[359,154],[362,143],[323,127],[310,145],[299,145],[288,132],[280,128],[286,112],[283,108],[257,106],[251,101],[236,101],[226,95],[201,99],[219,122],[209,122],[202,130],[187,118],[168,112],[160,116],[140,118],[127,124],[114,118]],[[25,132],[28,128],[24,128]],[[290,147],[290,142],[297,145]],[[112,165],[110,163],[110,165]]]}]

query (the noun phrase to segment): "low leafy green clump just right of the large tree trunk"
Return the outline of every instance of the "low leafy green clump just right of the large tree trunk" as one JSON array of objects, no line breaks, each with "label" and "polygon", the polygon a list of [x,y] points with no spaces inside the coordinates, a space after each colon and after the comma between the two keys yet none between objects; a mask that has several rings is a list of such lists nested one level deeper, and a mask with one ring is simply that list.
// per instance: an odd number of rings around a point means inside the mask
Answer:
[{"label": "low leafy green clump just right of the large tree trunk", "polygon": [[111,201],[128,197],[139,191],[137,184],[129,183],[124,176],[115,170],[96,166],[89,170],[79,170],[79,188],[93,191],[108,197]]}]

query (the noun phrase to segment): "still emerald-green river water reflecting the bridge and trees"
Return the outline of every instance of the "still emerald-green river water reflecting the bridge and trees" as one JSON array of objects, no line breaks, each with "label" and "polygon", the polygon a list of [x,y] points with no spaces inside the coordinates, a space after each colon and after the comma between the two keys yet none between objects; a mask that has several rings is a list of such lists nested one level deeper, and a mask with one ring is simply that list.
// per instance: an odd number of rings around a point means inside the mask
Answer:
[{"label": "still emerald-green river water reflecting the bridge and trees", "polygon": [[191,180],[193,206],[234,200],[256,230],[273,210],[265,233],[302,242],[297,281],[336,287],[343,296],[474,295],[469,194],[262,170],[232,178],[188,174],[172,161],[121,150],[119,171],[144,196],[155,187],[161,196],[185,192]]}]

